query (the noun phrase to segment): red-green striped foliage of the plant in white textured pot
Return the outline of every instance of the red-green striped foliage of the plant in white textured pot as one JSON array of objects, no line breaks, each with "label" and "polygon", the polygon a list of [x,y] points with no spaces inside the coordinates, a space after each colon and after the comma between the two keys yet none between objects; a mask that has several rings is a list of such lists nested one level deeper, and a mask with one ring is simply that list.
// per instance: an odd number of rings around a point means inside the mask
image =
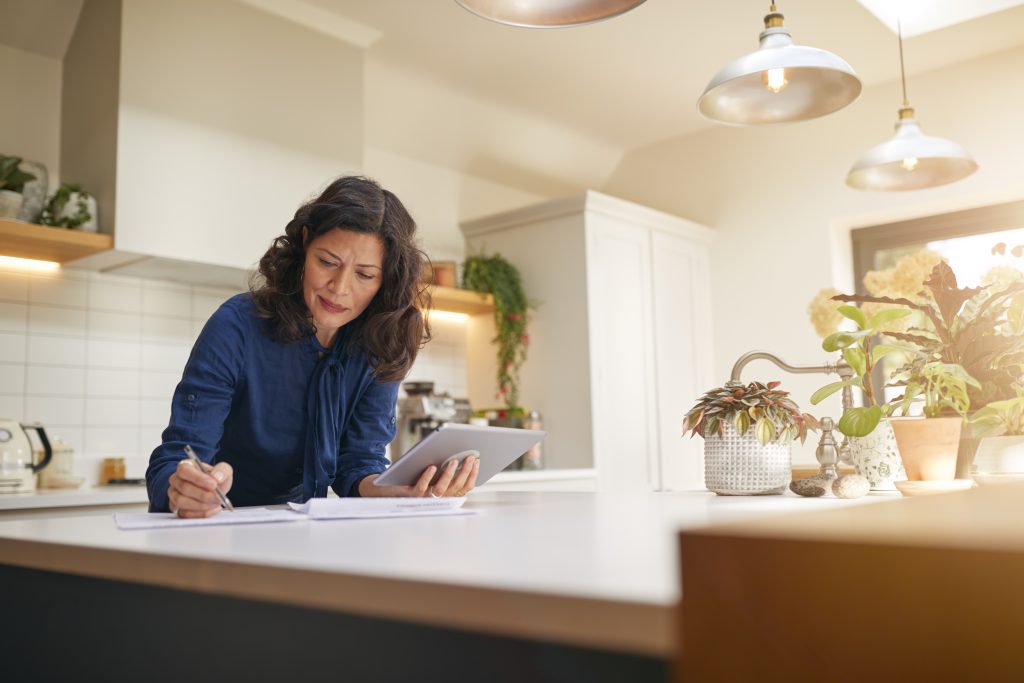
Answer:
[{"label": "red-green striped foliage of the plant in white textured pot", "polygon": [[795,438],[807,438],[808,429],[818,429],[817,419],[801,413],[790,398],[788,391],[778,388],[780,382],[726,382],[725,386],[706,392],[696,405],[683,418],[683,434],[690,432],[703,438],[722,436],[726,423],[732,424],[740,436],[752,427],[761,445]]}]

